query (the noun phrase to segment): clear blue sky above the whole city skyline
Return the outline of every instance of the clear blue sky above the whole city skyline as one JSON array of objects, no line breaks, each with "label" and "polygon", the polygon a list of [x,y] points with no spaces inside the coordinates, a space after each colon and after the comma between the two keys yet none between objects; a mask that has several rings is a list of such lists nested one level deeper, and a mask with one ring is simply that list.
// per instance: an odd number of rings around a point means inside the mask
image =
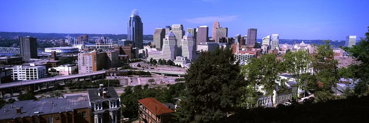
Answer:
[{"label": "clear blue sky above the whole city skyline", "polygon": [[279,33],[282,39],[364,37],[369,0],[1,0],[0,31],[127,33],[136,8],[144,34],[182,24],[211,27],[219,21],[228,36],[258,29],[257,38]]}]

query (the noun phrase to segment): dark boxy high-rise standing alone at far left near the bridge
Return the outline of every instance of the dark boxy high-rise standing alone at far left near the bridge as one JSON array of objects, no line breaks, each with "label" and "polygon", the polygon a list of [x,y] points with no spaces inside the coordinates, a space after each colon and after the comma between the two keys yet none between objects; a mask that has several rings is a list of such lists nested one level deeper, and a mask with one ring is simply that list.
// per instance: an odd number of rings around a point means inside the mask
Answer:
[{"label": "dark boxy high-rise standing alone at far left near the bridge", "polygon": [[37,59],[37,41],[34,37],[19,37],[19,46],[23,60]]}]

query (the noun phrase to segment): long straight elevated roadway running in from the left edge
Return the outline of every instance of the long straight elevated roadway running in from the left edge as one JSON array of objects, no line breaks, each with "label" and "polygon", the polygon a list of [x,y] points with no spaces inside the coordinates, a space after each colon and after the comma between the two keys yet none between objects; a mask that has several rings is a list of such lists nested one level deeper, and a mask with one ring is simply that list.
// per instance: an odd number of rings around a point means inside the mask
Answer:
[{"label": "long straight elevated roadway running in from the left edge", "polygon": [[57,76],[57,77],[50,77],[50,78],[43,78],[43,79],[25,80],[25,81],[18,81],[18,82],[12,82],[12,83],[4,83],[4,84],[0,84],[0,89],[22,86],[22,85],[31,85],[31,84],[52,82],[52,81],[65,80],[65,79],[74,79],[74,78],[86,77],[86,76],[91,76],[91,75],[99,75],[99,74],[105,73],[105,71],[106,70],[101,70],[101,71],[96,71],[96,72],[92,72],[92,73],[74,74],[74,75],[69,75],[69,76]]}]

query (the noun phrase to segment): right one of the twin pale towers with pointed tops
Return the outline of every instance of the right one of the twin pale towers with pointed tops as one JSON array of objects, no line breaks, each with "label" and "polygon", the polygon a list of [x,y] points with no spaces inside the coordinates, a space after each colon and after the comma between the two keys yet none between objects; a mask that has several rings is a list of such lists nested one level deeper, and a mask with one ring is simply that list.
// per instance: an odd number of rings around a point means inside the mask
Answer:
[{"label": "right one of the twin pale towers with pointed tops", "polygon": [[192,56],[196,53],[193,36],[187,32],[182,39],[182,56],[192,61]]}]

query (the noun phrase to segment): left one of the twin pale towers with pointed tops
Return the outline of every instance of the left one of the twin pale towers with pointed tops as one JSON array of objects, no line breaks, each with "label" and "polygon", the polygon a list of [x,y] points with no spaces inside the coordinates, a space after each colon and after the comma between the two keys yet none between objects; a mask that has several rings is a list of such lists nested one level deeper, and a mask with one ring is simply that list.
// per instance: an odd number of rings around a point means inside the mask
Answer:
[{"label": "left one of the twin pale towers with pointed tops", "polygon": [[[173,25],[174,26],[174,25]],[[173,29],[173,28],[172,28]],[[163,39],[162,59],[174,60],[177,57],[177,39],[173,32],[168,32]]]}]

